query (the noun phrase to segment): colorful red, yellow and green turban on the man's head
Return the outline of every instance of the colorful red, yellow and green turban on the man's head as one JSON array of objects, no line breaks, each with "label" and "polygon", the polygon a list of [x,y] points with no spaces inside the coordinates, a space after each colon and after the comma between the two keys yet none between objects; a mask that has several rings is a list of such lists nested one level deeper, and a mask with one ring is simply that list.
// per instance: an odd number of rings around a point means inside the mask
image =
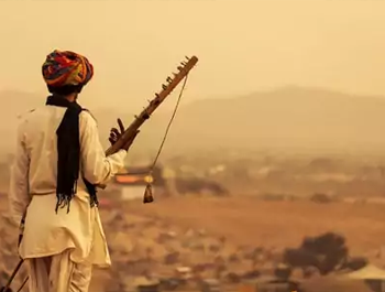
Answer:
[{"label": "colorful red, yellow and green turban on the man's head", "polygon": [[55,50],[47,55],[43,67],[45,83],[52,87],[86,85],[94,76],[89,61],[70,51]]}]

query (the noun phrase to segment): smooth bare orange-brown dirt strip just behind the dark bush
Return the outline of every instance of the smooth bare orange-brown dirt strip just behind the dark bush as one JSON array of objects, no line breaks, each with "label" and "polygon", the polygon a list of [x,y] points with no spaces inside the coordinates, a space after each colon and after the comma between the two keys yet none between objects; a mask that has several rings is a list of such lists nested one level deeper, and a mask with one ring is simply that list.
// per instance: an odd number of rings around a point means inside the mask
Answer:
[{"label": "smooth bare orange-brown dirt strip just behind the dark bush", "polygon": [[353,253],[385,244],[382,204],[264,202],[251,197],[160,198],[152,204],[127,203],[128,213],[155,216],[173,225],[205,228],[237,245],[294,247],[305,236],[337,231]]}]

